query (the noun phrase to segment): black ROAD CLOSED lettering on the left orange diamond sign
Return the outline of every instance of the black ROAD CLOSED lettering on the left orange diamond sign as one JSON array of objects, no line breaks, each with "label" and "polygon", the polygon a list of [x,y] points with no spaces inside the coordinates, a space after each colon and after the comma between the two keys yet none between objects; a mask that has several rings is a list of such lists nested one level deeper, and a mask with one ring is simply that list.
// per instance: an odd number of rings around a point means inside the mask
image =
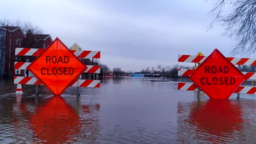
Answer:
[{"label": "black ROAD CLOSED lettering on the left orange diamond sign", "polygon": [[[46,56],[46,64],[67,64],[69,57],[67,56]],[[72,67],[43,67],[41,68],[42,75],[72,75],[74,68]]]}]

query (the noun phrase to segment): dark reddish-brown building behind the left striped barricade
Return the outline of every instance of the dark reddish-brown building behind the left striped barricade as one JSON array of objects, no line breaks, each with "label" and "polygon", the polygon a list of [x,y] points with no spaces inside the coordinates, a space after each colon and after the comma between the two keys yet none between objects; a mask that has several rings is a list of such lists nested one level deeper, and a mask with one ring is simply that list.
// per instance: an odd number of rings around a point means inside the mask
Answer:
[{"label": "dark reddish-brown building behind the left striped barricade", "polygon": [[50,34],[25,35],[20,27],[0,27],[0,78],[25,76],[25,70],[15,70],[15,62],[32,62],[36,57],[15,56],[16,47],[45,49],[53,42]]}]

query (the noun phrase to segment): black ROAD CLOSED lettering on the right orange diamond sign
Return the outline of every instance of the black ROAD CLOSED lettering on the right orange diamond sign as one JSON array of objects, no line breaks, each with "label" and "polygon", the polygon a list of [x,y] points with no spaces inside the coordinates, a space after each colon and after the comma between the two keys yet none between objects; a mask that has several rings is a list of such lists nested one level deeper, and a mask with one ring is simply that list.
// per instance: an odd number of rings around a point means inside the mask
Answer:
[{"label": "black ROAD CLOSED lettering on the right orange diamond sign", "polygon": [[214,74],[214,77],[201,77],[200,82],[202,85],[234,85],[236,80],[234,77],[226,76],[221,77],[219,75],[228,74],[229,67],[227,66],[205,66],[205,74]]}]

